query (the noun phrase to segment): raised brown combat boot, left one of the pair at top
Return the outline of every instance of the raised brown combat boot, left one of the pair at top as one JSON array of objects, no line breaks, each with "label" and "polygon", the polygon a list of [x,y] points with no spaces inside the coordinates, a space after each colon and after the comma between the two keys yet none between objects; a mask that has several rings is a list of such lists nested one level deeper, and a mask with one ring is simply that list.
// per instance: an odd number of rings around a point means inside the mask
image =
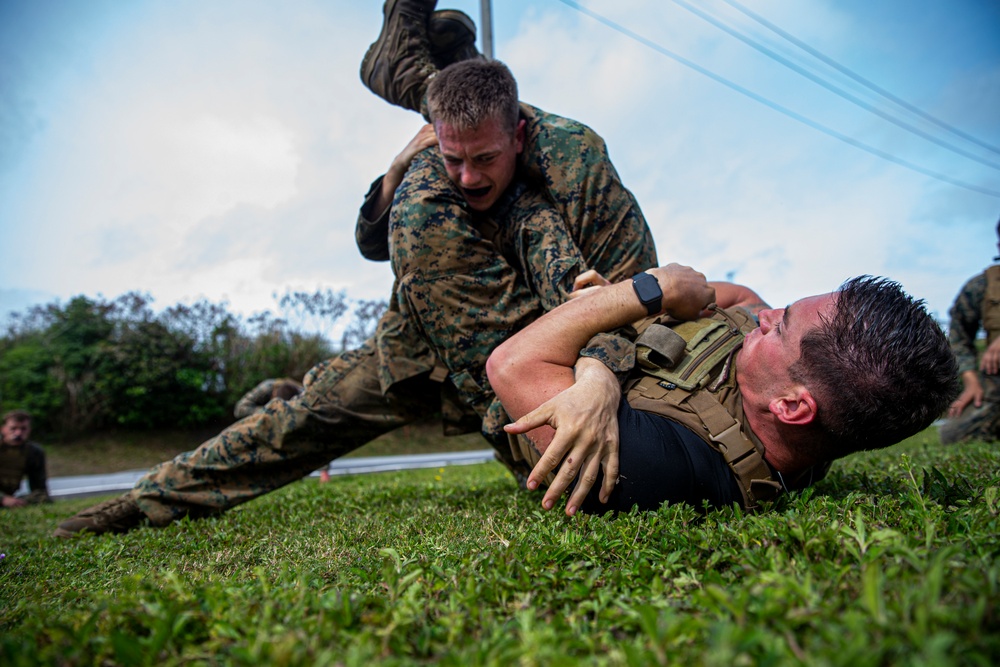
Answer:
[{"label": "raised brown combat boot, left one of the pair at top", "polygon": [[427,25],[437,0],[386,0],[382,32],[361,61],[361,81],[389,104],[420,111],[431,59]]}]

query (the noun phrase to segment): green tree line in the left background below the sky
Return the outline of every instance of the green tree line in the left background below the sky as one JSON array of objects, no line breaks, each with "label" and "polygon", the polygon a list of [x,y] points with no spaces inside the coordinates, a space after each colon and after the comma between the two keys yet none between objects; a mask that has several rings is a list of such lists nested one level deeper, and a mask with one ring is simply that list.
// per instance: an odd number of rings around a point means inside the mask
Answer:
[{"label": "green tree line in the left background below the sky", "polygon": [[301,379],[356,347],[387,307],[332,290],[275,298],[279,315],[246,318],[204,299],[157,313],[138,292],[12,313],[0,337],[0,409],[28,410],[37,429],[63,437],[217,423],[261,380]]}]

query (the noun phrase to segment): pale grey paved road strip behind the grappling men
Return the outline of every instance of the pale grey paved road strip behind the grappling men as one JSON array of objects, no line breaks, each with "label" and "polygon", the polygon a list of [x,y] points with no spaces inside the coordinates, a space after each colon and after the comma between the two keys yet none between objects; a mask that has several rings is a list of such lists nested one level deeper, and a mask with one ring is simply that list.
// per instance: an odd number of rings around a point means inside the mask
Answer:
[{"label": "pale grey paved road strip behind the grappling men", "polygon": [[[438,454],[412,454],[409,456],[370,456],[337,459],[330,463],[331,475],[361,475],[371,472],[392,470],[413,470],[416,468],[441,468],[449,465],[471,465],[493,460],[492,449],[472,452],[442,452]],[[98,494],[114,493],[131,489],[136,480],[146,474],[145,470],[108,473],[105,475],[79,475],[75,477],[52,477],[49,479],[49,494],[53,498],[76,498]],[[314,472],[311,476],[318,477]],[[27,485],[21,491],[27,492]]]}]

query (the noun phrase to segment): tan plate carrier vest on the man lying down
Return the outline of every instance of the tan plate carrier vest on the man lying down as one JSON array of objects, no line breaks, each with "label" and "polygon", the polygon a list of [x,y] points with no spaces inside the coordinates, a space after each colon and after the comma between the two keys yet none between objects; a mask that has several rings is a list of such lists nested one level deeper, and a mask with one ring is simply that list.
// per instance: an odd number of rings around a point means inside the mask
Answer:
[{"label": "tan plate carrier vest on the man lying down", "polygon": [[[731,368],[734,353],[757,323],[742,308],[715,311],[693,322],[661,316],[636,324],[636,369],[625,383],[625,397],[633,408],[681,424],[721,453],[743,494],[743,507],[756,510],[783,488],[764,462],[763,445],[744,434]],[[540,455],[526,438],[511,436],[510,444],[517,458],[532,467],[538,463]]]}]

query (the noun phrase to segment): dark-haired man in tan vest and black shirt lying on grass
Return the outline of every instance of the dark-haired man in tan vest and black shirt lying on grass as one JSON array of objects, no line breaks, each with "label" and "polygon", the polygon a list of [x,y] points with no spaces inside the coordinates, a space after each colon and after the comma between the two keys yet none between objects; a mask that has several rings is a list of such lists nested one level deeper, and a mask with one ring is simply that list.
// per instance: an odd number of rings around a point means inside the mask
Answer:
[{"label": "dark-haired man in tan vest and black shirt lying on grass", "polygon": [[[760,310],[759,326],[738,308],[759,301],[750,290],[676,264],[587,292],[509,338],[487,365],[517,419],[506,430],[535,464],[528,487],[548,481],[546,509],[578,475],[569,515],[663,502],[754,509],[808,486],[836,458],[926,428],[955,391],[944,333],[884,278]],[[713,302],[711,318],[672,319]],[[601,332],[630,323],[635,343],[616,359],[590,356]],[[588,421],[601,401],[618,405],[617,423]]]}]

